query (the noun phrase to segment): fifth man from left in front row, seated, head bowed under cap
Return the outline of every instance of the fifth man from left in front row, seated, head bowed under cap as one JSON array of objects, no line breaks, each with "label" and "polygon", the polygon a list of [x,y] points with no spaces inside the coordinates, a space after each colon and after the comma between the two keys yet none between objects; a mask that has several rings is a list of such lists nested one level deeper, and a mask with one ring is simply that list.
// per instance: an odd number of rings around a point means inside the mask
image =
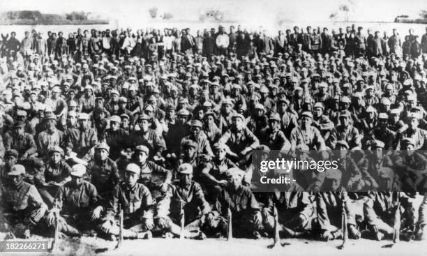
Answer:
[{"label": "fifth man from left in front row, seated, head bowed under cap", "polygon": [[[216,197],[213,211],[207,216],[207,226],[225,236],[227,225],[232,224],[233,235],[260,239],[262,216],[252,191],[243,186],[244,172],[239,168],[227,170],[228,186]],[[227,209],[232,212],[232,223],[227,224]]]}]

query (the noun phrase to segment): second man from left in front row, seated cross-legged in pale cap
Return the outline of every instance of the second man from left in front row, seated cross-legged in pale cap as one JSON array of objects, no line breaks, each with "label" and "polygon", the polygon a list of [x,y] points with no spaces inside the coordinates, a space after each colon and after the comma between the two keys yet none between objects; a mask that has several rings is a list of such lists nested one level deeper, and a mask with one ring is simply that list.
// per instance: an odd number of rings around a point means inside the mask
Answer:
[{"label": "second man from left in front row, seated cross-legged in pale cap", "polygon": [[95,186],[84,180],[84,174],[84,165],[73,165],[71,180],[59,188],[54,207],[47,215],[48,227],[54,228],[54,213],[57,213],[59,232],[68,236],[80,236],[79,230],[95,227],[100,220],[104,208],[100,205]]}]

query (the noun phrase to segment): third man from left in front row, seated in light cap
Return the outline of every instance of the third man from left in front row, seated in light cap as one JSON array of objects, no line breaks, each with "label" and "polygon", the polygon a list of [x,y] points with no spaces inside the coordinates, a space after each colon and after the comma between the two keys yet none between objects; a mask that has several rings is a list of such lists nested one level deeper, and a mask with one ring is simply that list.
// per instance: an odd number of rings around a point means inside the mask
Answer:
[{"label": "third man from left in front row, seated in light cap", "polygon": [[119,236],[120,228],[115,219],[119,205],[123,210],[123,237],[129,239],[149,239],[153,229],[154,202],[148,188],[141,183],[141,169],[130,163],[126,166],[125,179],[114,186],[112,196],[107,204],[100,231],[114,239]]}]

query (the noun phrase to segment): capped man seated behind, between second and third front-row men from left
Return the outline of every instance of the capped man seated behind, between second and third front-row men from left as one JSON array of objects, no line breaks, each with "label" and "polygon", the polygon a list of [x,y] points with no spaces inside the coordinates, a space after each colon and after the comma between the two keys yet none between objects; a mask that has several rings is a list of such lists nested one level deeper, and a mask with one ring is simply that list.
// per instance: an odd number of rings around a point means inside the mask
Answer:
[{"label": "capped man seated behind, between second and third front-row men from left", "polygon": [[95,147],[95,155],[87,165],[87,174],[85,178],[91,182],[99,195],[103,198],[109,198],[111,188],[119,183],[120,175],[117,170],[117,164],[108,157],[110,146],[101,142]]}]

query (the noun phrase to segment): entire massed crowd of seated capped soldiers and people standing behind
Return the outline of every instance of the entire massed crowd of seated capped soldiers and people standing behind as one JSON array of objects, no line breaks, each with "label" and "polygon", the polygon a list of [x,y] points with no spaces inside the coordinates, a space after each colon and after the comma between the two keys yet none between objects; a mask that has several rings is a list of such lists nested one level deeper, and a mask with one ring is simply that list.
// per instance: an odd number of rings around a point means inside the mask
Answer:
[{"label": "entire massed crowd of seated capped soldiers and people standing behind", "polygon": [[[2,36],[1,231],[259,239],[278,219],[282,237],[341,239],[345,222],[381,240],[400,216],[400,236],[425,240],[427,33],[379,34]],[[264,173],[255,151],[338,168]]]}]

